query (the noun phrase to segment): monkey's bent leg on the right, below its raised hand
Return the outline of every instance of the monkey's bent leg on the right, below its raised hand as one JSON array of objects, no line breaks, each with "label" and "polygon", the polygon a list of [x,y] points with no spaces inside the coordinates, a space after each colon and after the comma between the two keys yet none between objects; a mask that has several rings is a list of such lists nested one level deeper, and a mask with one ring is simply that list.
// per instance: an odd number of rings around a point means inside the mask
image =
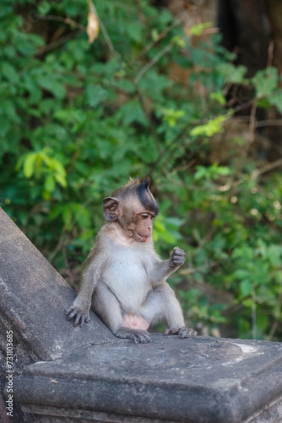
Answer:
[{"label": "monkey's bent leg on the right, below its raised hand", "polygon": [[141,307],[140,314],[150,324],[165,319],[169,326],[165,330],[165,335],[176,333],[181,338],[197,335],[193,329],[186,328],[180,304],[174,291],[166,282],[149,293]]}]

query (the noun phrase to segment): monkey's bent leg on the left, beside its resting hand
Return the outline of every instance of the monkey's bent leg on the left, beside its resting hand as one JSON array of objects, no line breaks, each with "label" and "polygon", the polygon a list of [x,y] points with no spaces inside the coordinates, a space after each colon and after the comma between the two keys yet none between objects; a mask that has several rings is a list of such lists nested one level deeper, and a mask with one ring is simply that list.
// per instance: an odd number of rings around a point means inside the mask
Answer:
[{"label": "monkey's bent leg on the left, beside its resting hand", "polygon": [[[117,338],[132,339],[136,343],[150,342],[150,335],[146,330],[139,329],[139,326],[136,329],[133,326],[126,326],[127,319],[130,320],[130,318],[127,317],[124,321],[120,302],[104,283],[98,283],[96,286],[92,307]],[[140,319],[142,319],[141,316]]]}]

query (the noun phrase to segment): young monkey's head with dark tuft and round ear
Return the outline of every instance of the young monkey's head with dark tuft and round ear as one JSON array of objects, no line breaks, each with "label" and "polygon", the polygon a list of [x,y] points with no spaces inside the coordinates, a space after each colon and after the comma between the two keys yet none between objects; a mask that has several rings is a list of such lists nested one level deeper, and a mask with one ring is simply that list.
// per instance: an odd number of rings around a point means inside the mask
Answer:
[{"label": "young monkey's head with dark tuft and round ear", "polygon": [[130,180],[111,197],[103,200],[103,215],[107,221],[120,224],[129,238],[146,243],[152,233],[158,203],[149,188],[148,178]]}]

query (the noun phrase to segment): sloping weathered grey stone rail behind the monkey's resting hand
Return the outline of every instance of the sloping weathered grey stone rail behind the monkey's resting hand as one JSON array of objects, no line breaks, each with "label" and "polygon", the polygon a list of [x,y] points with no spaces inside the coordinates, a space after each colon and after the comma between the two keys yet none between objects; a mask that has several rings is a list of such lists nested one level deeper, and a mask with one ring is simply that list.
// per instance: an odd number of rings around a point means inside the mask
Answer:
[{"label": "sloping weathered grey stone rail behind the monkey's resting hand", "polygon": [[1,208],[0,293],[0,314],[41,359],[58,358],[74,343],[115,339],[92,312],[81,329],[65,319],[74,291]]}]

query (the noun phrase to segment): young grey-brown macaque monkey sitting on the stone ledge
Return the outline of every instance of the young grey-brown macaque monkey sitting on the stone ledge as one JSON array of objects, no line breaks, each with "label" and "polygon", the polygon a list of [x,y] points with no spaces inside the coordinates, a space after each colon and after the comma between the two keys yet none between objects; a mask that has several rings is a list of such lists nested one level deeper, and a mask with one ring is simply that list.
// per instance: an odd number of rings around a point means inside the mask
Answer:
[{"label": "young grey-brown macaque monkey sitting on the stone ledge", "polygon": [[86,259],[82,285],[72,306],[65,311],[75,326],[88,322],[89,309],[118,338],[150,342],[149,326],[167,321],[165,335],[196,336],[184,323],[168,276],[185,262],[185,252],[175,247],[162,261],[155,252],[153,220],[158,204],[149,179],[130,180],[112,197],[103,200],[105,224]]}]

